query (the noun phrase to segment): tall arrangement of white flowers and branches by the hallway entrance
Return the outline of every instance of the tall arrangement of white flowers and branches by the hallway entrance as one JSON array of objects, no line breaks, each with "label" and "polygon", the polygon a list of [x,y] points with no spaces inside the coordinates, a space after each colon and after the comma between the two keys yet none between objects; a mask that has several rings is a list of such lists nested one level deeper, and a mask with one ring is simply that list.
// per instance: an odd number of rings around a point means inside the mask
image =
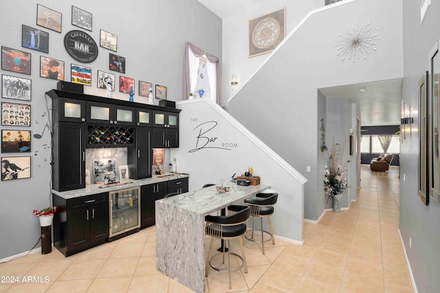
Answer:
[{"label": "tall arrangement of white flowers and branches by the hallway entrance", "polygon": [[336,148],[336,146],[339,146],[339,144],[336,143],[335,145],[333,141],[331,150],[327,153],[328,165],[325,166],[324,187],[325,194],[329,198],[340,200],[342,193],[349,189],[349,185],[347,178],[345,178],[345,172],[342,169],[342,151]]}]

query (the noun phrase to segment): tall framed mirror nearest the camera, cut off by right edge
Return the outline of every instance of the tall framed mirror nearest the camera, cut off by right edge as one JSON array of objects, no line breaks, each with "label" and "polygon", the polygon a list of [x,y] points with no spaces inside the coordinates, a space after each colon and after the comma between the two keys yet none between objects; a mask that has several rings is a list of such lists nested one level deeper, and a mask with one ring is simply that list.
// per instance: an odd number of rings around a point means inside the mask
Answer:
[{"label": "tall framed mirror nearest the camera, cut off by right edge", "polygon": [[439,157],[439,77],[440,54],[437,41],[430,51],[428,95],[428,145],[429,145],[429,195],[440,203],[440,157]]}]

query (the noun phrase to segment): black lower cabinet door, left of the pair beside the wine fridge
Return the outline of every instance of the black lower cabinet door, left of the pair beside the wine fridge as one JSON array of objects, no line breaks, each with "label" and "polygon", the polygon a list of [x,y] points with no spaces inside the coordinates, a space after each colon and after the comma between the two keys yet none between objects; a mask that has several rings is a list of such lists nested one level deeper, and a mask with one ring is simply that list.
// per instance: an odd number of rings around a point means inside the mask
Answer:
[{"label": "black lower cabinet door, left of the pair beside the wine fridge", "polygon": [[90,244],[87,209],[67,212],[67,250],[78,250]]}]

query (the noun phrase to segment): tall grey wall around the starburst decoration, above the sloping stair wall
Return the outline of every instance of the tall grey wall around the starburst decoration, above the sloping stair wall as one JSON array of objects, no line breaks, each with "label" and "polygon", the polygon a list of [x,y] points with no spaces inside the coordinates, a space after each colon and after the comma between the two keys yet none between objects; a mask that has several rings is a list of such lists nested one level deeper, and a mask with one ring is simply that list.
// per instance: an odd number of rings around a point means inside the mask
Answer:
[{"label": "tall grey wall around the starburst decoration, above the sloping stair wall", "polygon": [[[401,78],[401,14],[399,0],[341,1],[316,10],[230,101],[228,112],[233,117],[309,179],[305,192],[309,220],[317,220],[320,214],[315,206],[309,207],[308,200],[322,196],[316,172],[324,167],[318,165],[316,155],[317,89]],[[377,51],[366,60],[342,60],[336,56],[338,34],[356,23],[378,27]],[[327,119],[328,115],[327,111]],[[344,115],[351,119],[351,111]],[[312,167],[310,173],[305,173],[307,165]]]}]

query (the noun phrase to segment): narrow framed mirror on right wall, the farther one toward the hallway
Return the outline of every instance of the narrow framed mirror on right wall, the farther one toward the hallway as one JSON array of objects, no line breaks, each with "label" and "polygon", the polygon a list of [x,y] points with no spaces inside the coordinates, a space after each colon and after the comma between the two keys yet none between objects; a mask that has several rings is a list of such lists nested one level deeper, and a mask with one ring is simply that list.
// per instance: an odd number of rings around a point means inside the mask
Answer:
[{"label": "narrow framed mirror on right wall, the farther one toward the hallway", "polygon": [[429,95],[429,72],[426,71],[419,80],[419,198],[428,205],[429,196],[426,192],[429,189],[428,180],[428,95]]}]

